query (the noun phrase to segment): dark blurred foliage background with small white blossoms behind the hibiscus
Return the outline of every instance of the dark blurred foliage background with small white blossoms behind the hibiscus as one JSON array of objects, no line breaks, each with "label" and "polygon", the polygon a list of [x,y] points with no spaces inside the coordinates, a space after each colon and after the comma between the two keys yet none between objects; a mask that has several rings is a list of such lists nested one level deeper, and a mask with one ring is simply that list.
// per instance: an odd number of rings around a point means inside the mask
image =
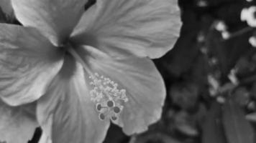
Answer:
[{"label": "dark blurred foliage background with small white blossoms behind the hibiscus", "polygon": [[[180,37],[154,60],[168,90],[162,119],[132,137],[112,124],[104,143],[256,142],[256,1],[179,0],[179,6]],[[38,128],[29,143],[41,134]]]}]

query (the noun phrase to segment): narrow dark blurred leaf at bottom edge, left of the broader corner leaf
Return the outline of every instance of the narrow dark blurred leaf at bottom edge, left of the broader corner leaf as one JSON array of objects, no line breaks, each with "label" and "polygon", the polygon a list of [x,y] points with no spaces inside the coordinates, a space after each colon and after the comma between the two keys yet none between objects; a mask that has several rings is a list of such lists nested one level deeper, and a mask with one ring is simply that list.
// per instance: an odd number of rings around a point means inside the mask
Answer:
[{"label": "narrow dark blurred leaf at bottom edge, left of the broader corner leaf", "polygon": [[226,143],[221,124],[221,104],[214,102],[203,124],[202,143]]}]

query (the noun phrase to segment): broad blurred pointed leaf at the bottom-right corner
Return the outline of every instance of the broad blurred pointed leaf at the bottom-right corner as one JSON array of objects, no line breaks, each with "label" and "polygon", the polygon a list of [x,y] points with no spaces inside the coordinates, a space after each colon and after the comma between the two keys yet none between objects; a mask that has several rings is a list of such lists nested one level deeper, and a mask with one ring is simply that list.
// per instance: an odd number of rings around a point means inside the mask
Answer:
[{"label": "broad blurred pointed leaf at the bottom-right corner", "polygon": [[239,104],[232,99],[223,107],[222,122],[229,143],[254,143],[254,132]]}]

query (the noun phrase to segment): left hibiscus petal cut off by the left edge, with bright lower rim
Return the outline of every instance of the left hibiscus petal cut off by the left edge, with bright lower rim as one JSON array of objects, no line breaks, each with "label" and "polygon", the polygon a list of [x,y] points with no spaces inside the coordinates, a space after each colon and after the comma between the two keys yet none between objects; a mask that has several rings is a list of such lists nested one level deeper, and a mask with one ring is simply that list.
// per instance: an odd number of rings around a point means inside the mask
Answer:
[{"label": "left hibiscus petal cut off by the left edge, with bright lower rim", "polygon": [[0,24],[0,98],[17,106],[45,94],[62,66],[60,53],[36,29]]}]

